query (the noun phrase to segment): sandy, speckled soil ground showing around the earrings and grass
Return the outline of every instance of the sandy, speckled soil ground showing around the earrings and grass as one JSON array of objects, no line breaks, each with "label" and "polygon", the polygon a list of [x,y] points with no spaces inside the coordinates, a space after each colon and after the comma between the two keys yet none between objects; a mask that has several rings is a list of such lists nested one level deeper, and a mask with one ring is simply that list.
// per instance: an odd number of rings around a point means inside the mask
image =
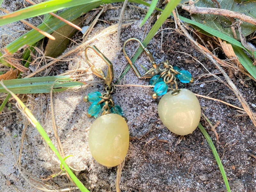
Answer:
[{"label": "sandy, speckled soil ground showing around the earrings and grass", "polygon": [[[22,7],[22,1],[6,3],[3,7],[14,11]],[[118,22],[121,9],[108,10],[100,19],[113,23]],[[134,19],[131,26],[123,28],[121,44],[130,37],[141,39],[145,26],[140,28],[140,22],[145,12],[129,7],[125,13],[124,20]],[[40,19],[31,20],[38,24]],[[88,38],[107,28],[109,24],[99,21]],[[175,28],[173,23],[165,23],[163,28]],[[0,29],[0,35],[15,34],[15,39],[26,30],[21,22],[9,24]],[[78,34],[81,36],[81,34]],[[204,55],[198,53],[195,48],[172,29],[164,30],[163,45],[161,49],[161,33],[158,33],[149,43],[148,48],[153,53],[156,62],[170,60],[174,66],[178,66],[190,73],[197,80],[199,76],[207,74],[205,69],[187,55],[175,51],[187,52],[200,60],[208,70],[217,74],[224,80],[223,76],[215,66],[207,60]],[[116,33],[101,37],[92,44],[96,45],[103,54],[113,63],[114,75],[117,77],[127,65],[122,51],[117,49]],[[10,38],[12,41],[12,38]],[[2,42],[3,45],[3,42]],[[128,54],[132,54],[136,45],[127,47]],[[71,48],[68,48],[69,51]],[[66,51],[66,52],[67,52]],[[90,52],[92,54],[92,52]],[[67,62],[59,62],[53,70],[58,74],[58,69],[68,68],[69,70],[79,67],[88,68],[85,62],[84,50],[70,55],[73,59]],[[107,70],[103,61],[92,57],[95,65]],[[188,62],[189,60],[189,62]],[[79,61],[79,62],[78,62]],[[139,60],[140,64],[150,68],[150,63],[145,55]],[[59,67],[58,67],[59,66]],[[136,63],[141,73],[143,69]],[[242,84],[240,80],[245,77],[236,75],[236,86],[242,92],[244,98],[251,105],[255,112],[255,82],[248,80]],[[88,71],[86,81],[100,80]],[[116,80],[116,79],[115,79]],[[216,99],[224,100],[238,107],[242,107],[232,91],[224,84],[219,83],[213,77],[198,79],[194,84],[181,84],[180,88],[188,88],[194,93],[206,95]],[[205,82],[211,81],[211,82]],[[203,87],[200,84],[205,82]],[[122,84],[148,85],[149,80],[139,80],[132,70],[126,74],[121,81]],[[198,84],[199,83],[199,84]],[[248,85],[248,86],[247,86]],[[69,89],[68,91],[53,94],[53,106],[50,105],[50,94],[30,95],[30,103],[33,104],[33,114],[43,125],[52,142],[56,146],[54,132],[52,129],[52,112],[54,116],[65,156],[73,155],[67,159],[67,163],[75,169],[77,177],[84,183],[86,188],[92,191],[115,191],[116,168],[107,168],[98,164],[91,156],[88,148],[88,133],[93,118],[86,117],[90,103],[83,102],[83,96],[89,92],[103,91],[102,84],[90,84],[82,88]],[[162,124],[157,114],[159,99],[152,100],[153,90],[142,87],[116,87],[113,95],[114,102],[120,105],[128,119],[130,132],[130,146],[128,156],[122,172],[120,183],[121,191],[142,192],[142,191],[225,191],[225,184],[220,174],[218,165],[212,155],[207,141],[199,129],[192,134],[180,137],[169,132]],[[255,191],[256,187],[256,163],[255,159],[248,156],[248,152],[255,153],[256,134],[255,127],[247,116],[235,116],[238,112],[222,103],[198,97],[202,111],[213,124],[220,122],[216,130],[219,133],[220,142],[210,131],[210,127],[201,119],[201,123],[211,136],[215,147],[222,160],[232,191]],[[14,101],[13,101],[14,102]],[[48,106],[48,107],[47,107]],[[14,152],[18,156],[20,150],[21,133],[24,129],[24,116],[18,112],[12,104],[15,113],[1,115],[1,125],[10,137]],[[160,140],[160,141],[159,141]],[[161,142],[161,140],[164,142]],[[0,191],[40,191],[31,187],[24,180],[20,171],[14,166],[16,160],[7,136],[0,131]],[[37,130],[31,125],[26,130],[26,137],[23,143],[21,156],[22,172],[36,186],[35,178],[47,178],[53,173],[60,171],[59,162],[56,160],[46,143]],[[58,176],[45,181],[49,189],[57,189],[67,183],[65,176]],[[67,188],[70,186],[64,186]],[[75,190],[78,191],[78,190]]]}]

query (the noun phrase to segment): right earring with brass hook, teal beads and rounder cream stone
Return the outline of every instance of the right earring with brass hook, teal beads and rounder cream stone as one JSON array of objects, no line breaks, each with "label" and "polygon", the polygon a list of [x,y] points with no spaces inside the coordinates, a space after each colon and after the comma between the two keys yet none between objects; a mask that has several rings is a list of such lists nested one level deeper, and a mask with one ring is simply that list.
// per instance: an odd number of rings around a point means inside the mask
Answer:
[{"label": "right earring with brass hook, teal beads and rounder cream stone", "polygon": [[[137,41],[153,65],[153,68],[142,76],[125,51],[125,46],[129,41]],[[176,81],[176,78],[178,78],[182,83],[192,83],[194,78],[191,74],[186,70],[173,67],[168,60],[156,64],[152,53],[136,38],[130,38],[124,42],[123,52],[133,71],[140,79],[151,78],[150,84],[155,85],[153,99],[164,95],[158,103],[158,115],[163,124],[171,132],[178,135],[192,133],[200,121],[200,104],[193,92],[188,89],[178,89]],[[161,64],[164,65],[164,68],[160,68]],[[170,92],[167,92],[168,84],[172,89]]]}]

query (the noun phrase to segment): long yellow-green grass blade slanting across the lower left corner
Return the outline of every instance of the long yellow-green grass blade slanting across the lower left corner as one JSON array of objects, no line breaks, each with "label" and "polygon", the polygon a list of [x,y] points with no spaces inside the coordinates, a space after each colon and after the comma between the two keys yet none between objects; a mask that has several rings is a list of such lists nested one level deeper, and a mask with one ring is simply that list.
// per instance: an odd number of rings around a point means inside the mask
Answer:
[{"label": "long yellow-green grass blade slanting across the lower left corner", "polygon": [[[2,86],[2,85],[1,85]],[[3,86],[2,86],[3,87]],[[7,91],[7,90],[6,90]],[[40,123],[36,120],[36,118],[33,116],[33,114],[31,113],[31,111],[24,105],[24,103],[22,103],[22,101],[14,94],[12,93],[10,90],[8,90],[7,92],[9,92],[10,94],[12,94],[12,97],[14,97],[14,99],[19,103],[22,111],[26,114],[29,122],[36,127],[37,131],[40,133],[40,135],[43,137],[43,139],[45,140],[45,142],[49,145],[49,147],[52,149],[52,151],[55,153],[55,155],[59,158],[60,163],[64,166],[64,168],[66,169],[66,171],[68,172],[70,178],[74,181],[74,183],[76,184],[76,186],[82,191],[82,192],[90,192],[88,189],[86,189],[84,187],[84,185],[81,183],[80,180],[78,180],[75,176],[75,174],[69,169],[68,165],[65,163],[65,160],[61,157],[60,153],[58,152],[58,150],[55,148],[55,146],[53,145],[51,139],[49,138],[49,136],[47,135],[47,133],[44,131],[44,128],[40,125]]]}]

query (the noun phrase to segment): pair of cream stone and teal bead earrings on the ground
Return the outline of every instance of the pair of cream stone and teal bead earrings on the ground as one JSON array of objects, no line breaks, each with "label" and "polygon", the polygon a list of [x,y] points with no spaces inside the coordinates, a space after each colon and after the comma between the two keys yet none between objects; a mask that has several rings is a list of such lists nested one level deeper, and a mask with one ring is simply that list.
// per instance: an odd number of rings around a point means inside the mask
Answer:
[{"label": "pair of cream stone and teal bead earrings on the ground", "polygon": [[[132,63],[125,51],[125,46],[129,41],[137,41],[144,49],[151,61],[153,68],[149,69],[144,75],[140,75],[139,70]],[[91,48],[108,65],[108,73],[105,77],[100,69],[89,61],[87,50]],[[136,38],[128,39],[123,46],[124,56],[128,60],[132,69],[140,79],[150,79],[150,84],[155,85],[153,99],[164,95],[158,103],[158,114],[163,124],[173,133],[187,135],[193,132],[199,124],[201,108],[195,94],[188,89],[178,89],[177,78],[182,83],[191,83],[193,77],[188,71],[173,67],[168,60],[156,64],[151,52],[144,47],[140,40]],[[102,116],[97,118],[90,128],[89,148],[93,158],[100,164],[113,167],[120,164],[129,147],[129,130],[127,119],[123,116],[120,106],[114,105],[111,94],[115,87],[112,85],[114,73],[112,63],[95,47],[85,48],[85,58],[91,66],[93,74],[104,80],[106,93],[92,92],[84,97],[85,102],[92,102],[88,109],[87,116],[97,116],[103,110]],[[159,75],[158,75],[159,74]],[[168,84],[171,85],[171,92],[167,92]],[[174,87],[173,87],[174,86]]]}]

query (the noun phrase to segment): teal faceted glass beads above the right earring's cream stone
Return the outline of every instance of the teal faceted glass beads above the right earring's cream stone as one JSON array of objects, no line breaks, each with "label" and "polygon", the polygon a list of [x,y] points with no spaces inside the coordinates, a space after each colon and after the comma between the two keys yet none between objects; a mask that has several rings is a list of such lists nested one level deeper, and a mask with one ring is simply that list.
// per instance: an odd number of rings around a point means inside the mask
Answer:
[{"label": "teal faceted glass beads above the right earring's cream stone", "polygon": [[[180,72],[180,74],[175,75],[181,83],[189,83],[192,79],[191,74],[186,70],[180,70],[178,67],[173,67],[174,70]],[[154,92],[158,96],[164,95],[167,93],[168,86],[164,83],[163,78],[160,77],[160,75],[155,75],[150,79],[150,85],[155,85]]]}]

